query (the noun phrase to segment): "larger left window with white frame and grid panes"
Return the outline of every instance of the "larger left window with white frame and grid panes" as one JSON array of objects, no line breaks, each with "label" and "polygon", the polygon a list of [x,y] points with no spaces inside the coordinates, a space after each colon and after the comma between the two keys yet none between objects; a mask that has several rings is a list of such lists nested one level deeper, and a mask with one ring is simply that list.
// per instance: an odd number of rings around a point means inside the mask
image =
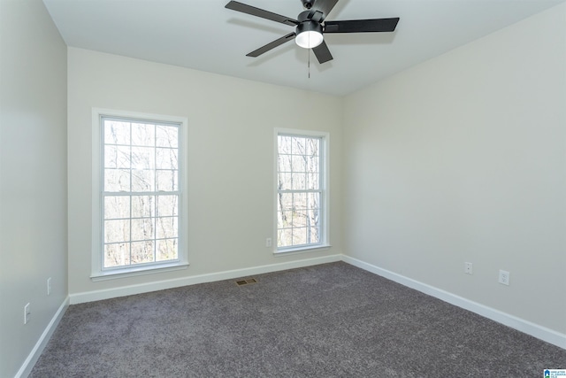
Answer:
[{"label": "larger left window with white frame and grid panes", "polygon": [[[165,118],[165,117],[163,117]],[[94,276],[187,265],[184,120],[99,113]]]}]

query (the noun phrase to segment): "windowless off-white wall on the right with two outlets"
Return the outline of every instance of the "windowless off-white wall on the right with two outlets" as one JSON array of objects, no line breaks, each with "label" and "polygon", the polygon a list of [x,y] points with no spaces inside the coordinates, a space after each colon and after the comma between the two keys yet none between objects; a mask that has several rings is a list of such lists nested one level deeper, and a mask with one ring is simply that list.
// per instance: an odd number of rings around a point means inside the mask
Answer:
[{"label": "windowless off-white wall on the right with two outlets", "polygon": [[566,334],[565,4],[348,96],[345,120],[349,256]]}]

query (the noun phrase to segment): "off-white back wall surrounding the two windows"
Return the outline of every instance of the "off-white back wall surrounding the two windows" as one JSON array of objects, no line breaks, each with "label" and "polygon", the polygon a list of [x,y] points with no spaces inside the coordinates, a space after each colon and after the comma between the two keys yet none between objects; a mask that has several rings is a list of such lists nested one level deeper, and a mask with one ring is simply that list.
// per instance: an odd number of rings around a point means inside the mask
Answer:
[{"label": "off-white back wall surrounding the two windows", "polygon": [[[306,80],[306,79],[305,79]],[[341,253],[340,98],[90,50],[68,50],[69,291],[72,297]],[[91,282],[92,108],[187,117],[187,270]],[[331,135],[332,248],[274,257],[273,129]]]}]

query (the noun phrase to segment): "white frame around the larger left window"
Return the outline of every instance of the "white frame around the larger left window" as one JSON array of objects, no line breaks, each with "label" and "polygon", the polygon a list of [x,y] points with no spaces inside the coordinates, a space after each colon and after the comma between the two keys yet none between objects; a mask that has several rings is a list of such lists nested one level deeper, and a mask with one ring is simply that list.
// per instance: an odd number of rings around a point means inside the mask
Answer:
[{"label": "white frame around the larger left window", "polygon": [[[142,266],[124,266],[103,268],[103,117],[116,117],[129,120],[177,123],[179,127],[179,258],[170,262],[148,263]],[[131,277],[141,274],[153,274],[186,269],[188,266],[188,120],[142,112],[126,112],[110,109],[92,109],[92,263],[90,279],[104,281]]]}]

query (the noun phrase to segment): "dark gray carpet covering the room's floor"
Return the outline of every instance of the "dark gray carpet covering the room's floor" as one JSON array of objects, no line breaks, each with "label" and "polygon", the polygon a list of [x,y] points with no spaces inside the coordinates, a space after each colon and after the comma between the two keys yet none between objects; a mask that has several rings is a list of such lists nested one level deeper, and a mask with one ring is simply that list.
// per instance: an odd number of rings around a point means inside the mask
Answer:
[{"label": "dark gray carpet covering the room's floor", "polygon": [[31,377],[539,377],[566,350],[349,266],[72,305]]}]

